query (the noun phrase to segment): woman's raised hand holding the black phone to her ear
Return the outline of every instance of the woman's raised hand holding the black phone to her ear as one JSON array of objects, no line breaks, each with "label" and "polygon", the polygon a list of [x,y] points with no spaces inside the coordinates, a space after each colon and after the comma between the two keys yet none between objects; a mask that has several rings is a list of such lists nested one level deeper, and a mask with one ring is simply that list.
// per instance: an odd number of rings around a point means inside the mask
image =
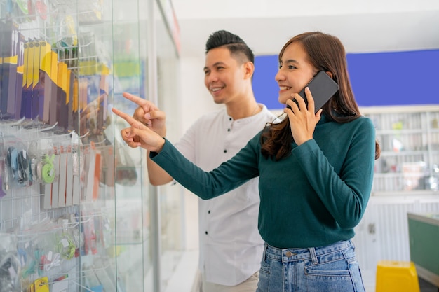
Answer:
[{"label": "woman's raised hand holding the black phone to her ear", "polygon": [[292,99],[288,99],[286,104],[291,109],[285,107],[283,110],[290,119],[291,134],[297,145],[313,139],[314,130],[322,113],[322,109],[319,109],[314,114],[314,99],[309,88],[305,88],[305,94],[308,100],[308,109],[306,109],[304,99],[298,93],[294,93],[292,98],[298,105]]}]

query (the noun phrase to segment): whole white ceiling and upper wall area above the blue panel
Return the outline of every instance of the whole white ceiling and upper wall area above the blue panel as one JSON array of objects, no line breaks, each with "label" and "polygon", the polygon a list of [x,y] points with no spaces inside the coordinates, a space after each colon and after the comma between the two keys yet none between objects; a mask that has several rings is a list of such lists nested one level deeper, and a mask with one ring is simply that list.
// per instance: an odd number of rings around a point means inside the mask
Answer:
[{"label": "whole white ceiling and upper wall area above the blue panel", "polygon": [[217,29],[239,34],[259,54],[276,54],[290,36],[322,30],[346,50],[438,48],[437,0],[173,0],[182,56],[199,55]]}]

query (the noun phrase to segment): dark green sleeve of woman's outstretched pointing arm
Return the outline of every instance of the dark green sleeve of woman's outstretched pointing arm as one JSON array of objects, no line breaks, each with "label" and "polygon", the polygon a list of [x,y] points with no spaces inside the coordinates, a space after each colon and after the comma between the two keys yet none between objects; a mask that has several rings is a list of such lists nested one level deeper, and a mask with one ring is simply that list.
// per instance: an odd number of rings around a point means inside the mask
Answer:
[{"label": "dark green sleeve of woman's outstretched pointing arm", "polygon": [[204,172],[203,169],[184,158],[168,140],[165,141],[160,153],[151,152],[149,155],[175,181],[201,199],[208,200],[259,176],[258,141],[257,137],[254,137],[233,158],[210,172]]}]

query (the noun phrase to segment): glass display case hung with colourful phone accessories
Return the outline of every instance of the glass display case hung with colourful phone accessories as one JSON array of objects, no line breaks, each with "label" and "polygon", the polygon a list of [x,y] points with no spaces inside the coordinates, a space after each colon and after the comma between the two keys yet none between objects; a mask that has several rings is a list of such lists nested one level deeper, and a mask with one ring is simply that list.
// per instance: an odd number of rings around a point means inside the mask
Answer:
[{"label": "glass display case hung with colourful phone accessories", "polygon": [[1,292],[166,286],[157,283],[176,263],[161,269],[154,258],[180,249],[181,202],[167,193],[156,200],[146,153],[124,144],[128,124],[111,109],[133,113],[122,92],[164,110],[177,100],[177,86],[156,78],[177,84],[170,8],[0,0]]}]

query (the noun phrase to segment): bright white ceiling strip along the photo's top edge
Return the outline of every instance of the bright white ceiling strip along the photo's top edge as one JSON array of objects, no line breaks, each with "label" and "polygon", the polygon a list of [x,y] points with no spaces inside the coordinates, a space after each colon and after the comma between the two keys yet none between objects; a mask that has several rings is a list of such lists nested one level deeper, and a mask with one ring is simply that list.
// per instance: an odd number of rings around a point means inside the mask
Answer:
[{"label": "bright white ceiling strip along the photo's top edge", "polygon": [[290,17],[292,15],[358,14],[426,11],[439,8],[437,0],[173,0],[177,18]]}]

